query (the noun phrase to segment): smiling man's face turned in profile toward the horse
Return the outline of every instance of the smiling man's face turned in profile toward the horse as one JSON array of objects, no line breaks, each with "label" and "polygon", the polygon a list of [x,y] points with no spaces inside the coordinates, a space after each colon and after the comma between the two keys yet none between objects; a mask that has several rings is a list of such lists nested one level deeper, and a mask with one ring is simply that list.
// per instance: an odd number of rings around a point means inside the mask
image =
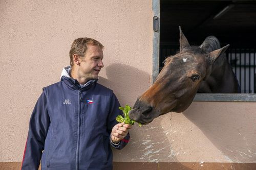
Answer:
[{"label": "smiling man's face turned in profile toward the horse", "polygon": [[97,79],[100,69],[104,66],[103,51],[99,46],[88,45],[84,57],[80,58],[79,77],[87,80]]}]

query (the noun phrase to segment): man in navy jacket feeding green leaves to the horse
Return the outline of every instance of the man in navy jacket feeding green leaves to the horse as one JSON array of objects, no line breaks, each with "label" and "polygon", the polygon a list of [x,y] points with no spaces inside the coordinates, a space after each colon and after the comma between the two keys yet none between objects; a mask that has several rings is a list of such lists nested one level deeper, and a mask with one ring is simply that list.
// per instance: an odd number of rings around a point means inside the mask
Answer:
[{"label": "man in navy jacket feeding green leaves to the horse", "polygon": [[131,125],[112,90],[97,83],[103,45],[76,39],[61,81],[43,88],[30,119],[22,169],[112,169],[111,147],[122,149]]}]

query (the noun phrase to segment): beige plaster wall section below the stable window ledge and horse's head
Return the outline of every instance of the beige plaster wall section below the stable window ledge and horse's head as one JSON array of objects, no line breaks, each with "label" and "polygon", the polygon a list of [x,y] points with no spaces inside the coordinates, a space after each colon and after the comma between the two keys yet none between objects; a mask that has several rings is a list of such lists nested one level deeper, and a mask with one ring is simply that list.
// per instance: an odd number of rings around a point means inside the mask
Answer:
[{"label": "beige plaster wall section below the stable window ledge and horse's head", "polygon": [[116,161],[256,163],[256,104],[193,102],[183,113],[167,113],[135,126]]}]

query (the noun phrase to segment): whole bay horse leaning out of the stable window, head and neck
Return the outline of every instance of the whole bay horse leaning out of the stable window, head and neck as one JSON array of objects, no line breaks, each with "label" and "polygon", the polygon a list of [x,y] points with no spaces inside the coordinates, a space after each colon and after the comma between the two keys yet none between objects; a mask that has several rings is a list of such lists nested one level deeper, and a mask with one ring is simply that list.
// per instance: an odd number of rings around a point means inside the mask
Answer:
[{"label": "whole bay horse leaning out of the stable window, head and neck", "polygon": [[228,63],[225,51],[214,36],[200,46],[190,46],[180,29],[180,52],[167,57],[155,83],[136,101],[129,116],[148,124],[159,115],[183,112],[197,92],[237,93],[238,81]]}]

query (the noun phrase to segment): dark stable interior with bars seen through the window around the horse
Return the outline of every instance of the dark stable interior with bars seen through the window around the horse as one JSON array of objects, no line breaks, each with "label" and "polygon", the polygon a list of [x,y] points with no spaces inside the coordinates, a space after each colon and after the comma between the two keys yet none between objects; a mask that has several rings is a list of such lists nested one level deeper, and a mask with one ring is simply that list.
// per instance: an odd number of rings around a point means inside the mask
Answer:
[{"label": "dark stable interior with bars seen through the window around the horse", "polygon": [[160,1],[160,62],[179,50],[179,26],[191,45],[216,36],[236,73],[242,93],[256,93],[255,1]]}]

